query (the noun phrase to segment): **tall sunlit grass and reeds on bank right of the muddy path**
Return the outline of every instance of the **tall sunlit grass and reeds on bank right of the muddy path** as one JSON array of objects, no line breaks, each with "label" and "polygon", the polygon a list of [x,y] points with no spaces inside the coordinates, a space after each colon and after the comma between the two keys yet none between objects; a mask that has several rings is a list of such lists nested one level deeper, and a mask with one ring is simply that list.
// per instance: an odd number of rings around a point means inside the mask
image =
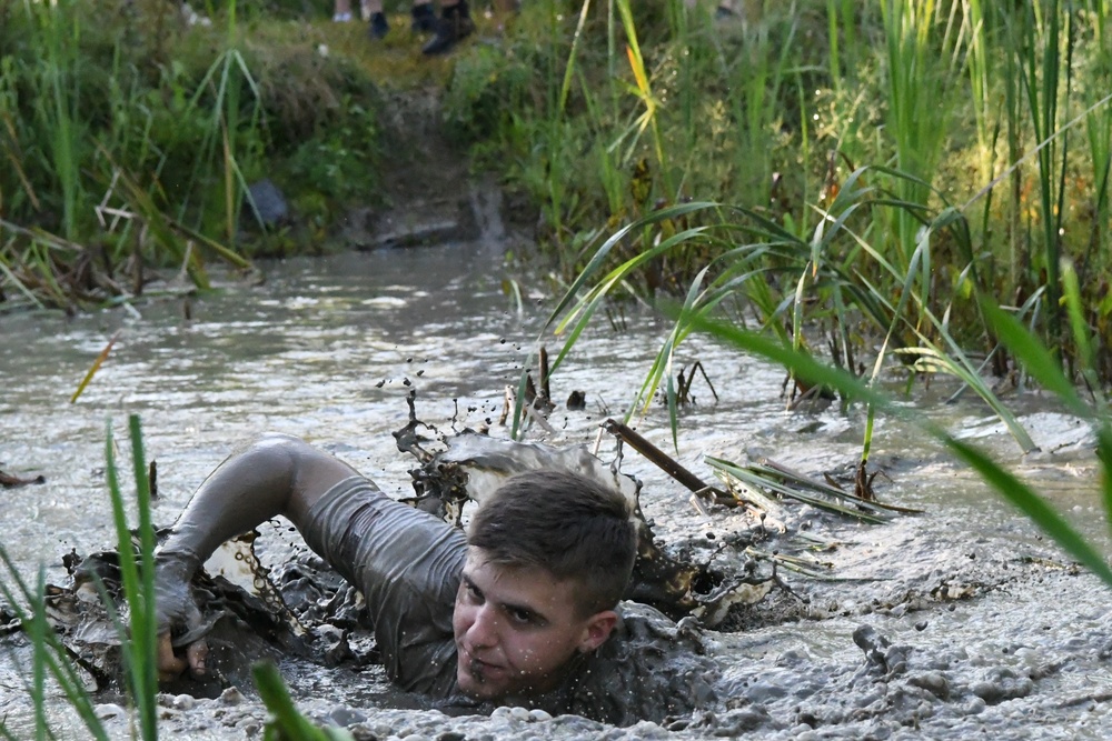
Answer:
[{"label": "tall sunlit grass and reeds on bank right of the muddy path", "polygon": [[[1082,302],[1100,307],[1086,317],[1098,347],[1112,347],[1098,278],[1106,230],[1095,226],[1112,168],[1096,70],[1110,62],[1104,46],[1080,42],[1106,40],[1105,3],[749,4],[747,22],[719,23],[678,2],[547,0],[523,11],[504,53],[458,58],[449,126],[495,129],[464,140],[542,204],[565,287],[624,266],[608,301],[683,297],[727,274],[727,252],[771,236],[792,244],[791,267],[777,262],[784,246],[770,248],[761,270],[777,280],[738,296],[770,329],[786,319],[796,347],[825,322],[840,362],[881,341],[949,358],[962,348],[954,368],[966,374],[992,353],[986,370],[1005,373],[1009,351],[971,297],[1033,300],[1035,329],[1072,363],[1065,259],[1079,266]],[[514,77],[520,67],[545,73]],[[469,94],[454,96],[457,86]],[[483,117],[505,100],[535,104]],[[850,206],[845,189],[852,212],[835,209]],[[683,202],[723,208],[687,214],[683,227],[704,231],[658,250],[673,233],[651,213]]]}]

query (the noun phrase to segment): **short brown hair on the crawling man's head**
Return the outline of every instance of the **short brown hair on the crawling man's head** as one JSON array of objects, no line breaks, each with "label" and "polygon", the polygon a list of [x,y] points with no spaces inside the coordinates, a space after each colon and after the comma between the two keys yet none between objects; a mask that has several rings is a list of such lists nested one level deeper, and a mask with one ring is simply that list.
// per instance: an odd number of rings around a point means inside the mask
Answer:
[{"label": "short brown hair on the crawling man's head", "polygon": [[508,479],[471,519],[467,542],[492,563],[539,567],[582,585],[576,610],[588,617],[622,599],[637,557],[637,528],[626,498],[565,471]]}]

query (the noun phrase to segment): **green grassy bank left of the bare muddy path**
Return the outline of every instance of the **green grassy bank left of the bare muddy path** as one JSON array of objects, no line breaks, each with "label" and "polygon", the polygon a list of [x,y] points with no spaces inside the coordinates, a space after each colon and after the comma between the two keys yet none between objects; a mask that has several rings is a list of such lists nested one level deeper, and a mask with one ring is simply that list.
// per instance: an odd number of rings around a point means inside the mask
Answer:
[{"label": "green grassy bank left of the bare muddy path", "polygon": [[[374,192],[377,89],[322,29],[235,2],[211,27],[151,1],[2,13],[0,310],[130,300],[141,268],[203,290],[207,263],[316,242]],[[264,177],[296,229],[255,218],[248,184]]]}]

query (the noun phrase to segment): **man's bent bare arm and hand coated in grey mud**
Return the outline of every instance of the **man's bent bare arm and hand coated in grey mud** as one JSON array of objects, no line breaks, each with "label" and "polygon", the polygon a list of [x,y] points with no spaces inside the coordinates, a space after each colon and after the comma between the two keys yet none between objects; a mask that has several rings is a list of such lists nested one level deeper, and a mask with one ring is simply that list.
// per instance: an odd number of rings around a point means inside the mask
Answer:
[{"label": "man's bent bare arm and hand coated in grey mud", "polygon": [[267,435],[229,457],[209,474],[178,517],[156,553],[159,613],[159,671],[171,677],[186,665],[203,673],[203,640],[190,643],[186,659],[173,655],[170,629],[200,622],[189,581],[226,540],[276,515],[300,530],[312,504],[334,484],[358,472],[347,463],[289,435]]}]

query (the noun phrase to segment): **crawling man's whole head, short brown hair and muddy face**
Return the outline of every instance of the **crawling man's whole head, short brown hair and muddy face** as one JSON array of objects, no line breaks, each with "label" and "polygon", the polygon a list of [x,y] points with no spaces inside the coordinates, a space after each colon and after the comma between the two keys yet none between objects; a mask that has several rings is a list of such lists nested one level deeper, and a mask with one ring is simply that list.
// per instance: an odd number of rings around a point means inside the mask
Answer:
[{"label": "crawling man's whole head, short brown hair and muddy face", "polygon": [[456,598],[457,678],[471,697],[552,689],[602,645],[637,551],[623,494],[556,471],[509,479],[471,520]]}]

